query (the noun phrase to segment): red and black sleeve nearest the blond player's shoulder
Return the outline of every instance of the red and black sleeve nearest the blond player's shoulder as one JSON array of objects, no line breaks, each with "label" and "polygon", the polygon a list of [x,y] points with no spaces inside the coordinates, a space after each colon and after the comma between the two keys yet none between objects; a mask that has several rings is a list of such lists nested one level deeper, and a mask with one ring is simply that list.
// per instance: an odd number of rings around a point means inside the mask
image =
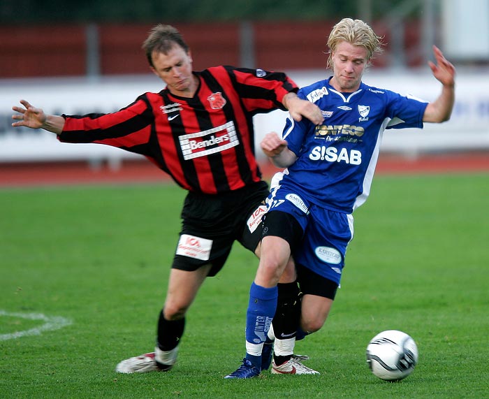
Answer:
[{"label": "red and black sleeve nearest the blond player's shoulder", "polygon": [[225,66],[234,87],[249,112],[263,113],[270,110],[286,110],[284,96],[298,92],[298,86],[282,72],[263,69],[234,68]]}]

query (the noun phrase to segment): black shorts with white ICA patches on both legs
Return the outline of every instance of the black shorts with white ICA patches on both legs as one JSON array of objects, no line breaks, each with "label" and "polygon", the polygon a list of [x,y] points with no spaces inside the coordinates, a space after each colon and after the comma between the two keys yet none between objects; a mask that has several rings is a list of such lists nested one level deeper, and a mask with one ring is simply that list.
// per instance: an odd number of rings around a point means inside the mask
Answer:
[{"label": "black shorts with white ICA patches on both legs", "polygon": [[267,196],[263,181],[226,194],[189,192],[172,268],[192,271],[210,263],[209,276],[214,276],[228,259],[233,242],[254,252],[261,240]]}]

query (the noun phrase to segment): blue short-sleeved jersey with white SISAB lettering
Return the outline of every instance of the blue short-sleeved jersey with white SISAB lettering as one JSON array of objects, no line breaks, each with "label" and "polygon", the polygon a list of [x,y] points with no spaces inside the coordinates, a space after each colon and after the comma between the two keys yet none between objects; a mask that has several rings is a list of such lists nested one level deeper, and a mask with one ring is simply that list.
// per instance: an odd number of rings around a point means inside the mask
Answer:
[{"label": "blue short-sleeved jersey with white SISAB lettering", "polygon": [[360,84],[340,93],[329,79],[302,87],[298,96],[316,103],[324,122],[287,119],[282,133],[298,159],[280,185],[309,203],[351,213],[370,194],[385,129],[423,127],[427,102]]}]

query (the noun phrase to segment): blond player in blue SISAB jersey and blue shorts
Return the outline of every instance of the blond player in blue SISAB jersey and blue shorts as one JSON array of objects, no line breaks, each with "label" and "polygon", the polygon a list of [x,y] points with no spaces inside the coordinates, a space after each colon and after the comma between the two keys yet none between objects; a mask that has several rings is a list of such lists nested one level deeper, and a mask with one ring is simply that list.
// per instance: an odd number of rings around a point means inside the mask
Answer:
[{"label": "blond player in blue SISAB jersey and blue shorts", "polygon": [[[444,122],[451,116],[455,68],[436,47],[436,62],[429,66],[442,88],[432,103],[362,82],[381,45],[381,38],[365,22],[345,18],[337,23],[328,38],[333,76],[298,92],[321,108],[324,122],[314,125],[289,118],[282,137],[269,133],[261,143],[272,162],[286,169],[275,175],[268,197],[261,259],[247,310],[247,354],[240,368],[226,378],[260,374],[262,348],[274,315],[272,373],[318,374],[293,355],[295,331],[318,331],[328,317],[346,247],[353,238],[352,213],[370,194],[384,130],[422,128],[423,122]],[[286,270],[291,254],[302,299],[290,300],[288,306],[300,306],[300,312],[286,310],[284,303],[277,306],[277,292],[282,296],[284,286],[289,286],[285,291],[293,298],[295,276]],[[281,276],[280,282],[285,282],[284,270],[291,280],[277,288]]]}]

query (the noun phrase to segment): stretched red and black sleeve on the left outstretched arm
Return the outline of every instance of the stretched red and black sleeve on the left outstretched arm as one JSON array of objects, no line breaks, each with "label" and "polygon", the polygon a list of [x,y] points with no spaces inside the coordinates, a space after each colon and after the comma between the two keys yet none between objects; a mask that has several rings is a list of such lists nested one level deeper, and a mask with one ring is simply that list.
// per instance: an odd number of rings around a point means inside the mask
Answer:
[{"label": "stretched red and black sleeve on the left outstretched arm", "polygon": [[63,131],[58,139],[63,143],[98,143],[120,147],[132,152],[145,145],[154,120],[145,95],[115,113],[62,115]]}]

